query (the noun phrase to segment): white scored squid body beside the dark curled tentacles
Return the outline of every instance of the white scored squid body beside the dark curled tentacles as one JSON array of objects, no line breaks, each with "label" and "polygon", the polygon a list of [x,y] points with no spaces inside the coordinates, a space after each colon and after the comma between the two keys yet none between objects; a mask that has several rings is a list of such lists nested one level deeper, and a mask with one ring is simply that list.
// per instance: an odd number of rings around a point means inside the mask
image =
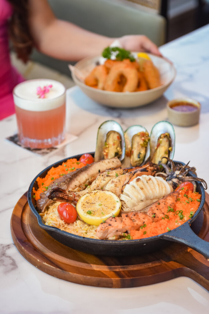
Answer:
[{"label": "white scored squid body beside the dark curled tentacles", "polygon": [[120,194],[123,212],[140,210],[159,198],[173,192],[173,188],[161,177],[140,176],[129,180]]}]

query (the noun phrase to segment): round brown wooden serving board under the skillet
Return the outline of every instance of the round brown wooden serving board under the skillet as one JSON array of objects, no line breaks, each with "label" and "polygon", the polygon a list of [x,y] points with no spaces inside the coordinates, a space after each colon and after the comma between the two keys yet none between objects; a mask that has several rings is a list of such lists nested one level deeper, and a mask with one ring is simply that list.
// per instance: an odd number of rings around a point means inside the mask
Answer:
[{"label": "round brown wooden serving board under the skillet", "polygon": [[[209,203],[208,194],[206,202]],[[196,219],[195,227],[200,230],[198,235],[209,242],[207,203]],[[61,244],[39,227],[29,208],[27,193],[13,210],[11,232],[15,246],[29,263],[45,273],[73,283],[127,288],[186,276],[209,290],[209,261],[183,244],[169,242],[157,252],[135,257],[94,256]]]}]

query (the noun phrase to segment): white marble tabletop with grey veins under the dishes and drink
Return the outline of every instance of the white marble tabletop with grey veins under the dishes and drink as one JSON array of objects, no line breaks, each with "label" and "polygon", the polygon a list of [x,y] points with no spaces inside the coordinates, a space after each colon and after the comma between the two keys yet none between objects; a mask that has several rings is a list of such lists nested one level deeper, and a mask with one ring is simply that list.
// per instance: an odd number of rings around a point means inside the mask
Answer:
[{"label": "white marble tabletop with grey veins under the dishes and drink", "polygon": [[78,138],[50,157],[34,156],[4,140],[16,131],[15,116],[0,122],[0,313],[208,313],[208,292],[191,279],[129,289],[106,289],[53,278],[27,262],[13,245],[10,217],[14,205],[36,174],[55,161],[93,151],[98,126],[113,118],[122,127],[142,124],[148,131],[167,118],[167,100],[179,96],[202,104],[200,124],[175,127],[175,160],[196,166],[209,183],[209,26],[161,47],[177,69],[175,82],[158,101],[132,110],[116,110],[93,103],[74,87],[67,93],[67,124]]}]

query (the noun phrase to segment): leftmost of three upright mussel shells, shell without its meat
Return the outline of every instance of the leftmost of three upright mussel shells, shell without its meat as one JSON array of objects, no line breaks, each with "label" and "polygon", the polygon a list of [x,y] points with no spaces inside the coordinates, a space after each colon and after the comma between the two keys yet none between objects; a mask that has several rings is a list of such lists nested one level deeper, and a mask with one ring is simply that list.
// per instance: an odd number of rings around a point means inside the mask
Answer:
[{"label": "leftmost of three upright mussel shells, shell without its meat", "polygon": [[94,155],[95,161],[104,159],[103,149],[105,147],[107,133],[110,131],[116,131],[120,134],[122,154],[118,158],[121,161],[124,159],[126,148],[125,148],[125,138],[124,138],[123,129],[118,122],[114,120],[107,120],[103,122],[98,128],[97,145],[96,145],[96,150],[95,150],[95,155]]}]

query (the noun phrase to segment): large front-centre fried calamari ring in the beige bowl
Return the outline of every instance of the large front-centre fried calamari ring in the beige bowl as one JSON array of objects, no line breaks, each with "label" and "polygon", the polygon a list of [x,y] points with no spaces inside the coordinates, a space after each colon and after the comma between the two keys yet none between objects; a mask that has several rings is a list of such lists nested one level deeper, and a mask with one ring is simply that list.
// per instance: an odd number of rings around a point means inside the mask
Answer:
[{"label": "large front-centre fried calamari ring in the beige bowl", "polygon": [[[123,79],[125,78],[125,80]],[[125,63],[116,64],[107,75],[105,90],[118,91],[118,82],[124,81],[122,92],[134,92],[138,85],[138,71]]]}]

